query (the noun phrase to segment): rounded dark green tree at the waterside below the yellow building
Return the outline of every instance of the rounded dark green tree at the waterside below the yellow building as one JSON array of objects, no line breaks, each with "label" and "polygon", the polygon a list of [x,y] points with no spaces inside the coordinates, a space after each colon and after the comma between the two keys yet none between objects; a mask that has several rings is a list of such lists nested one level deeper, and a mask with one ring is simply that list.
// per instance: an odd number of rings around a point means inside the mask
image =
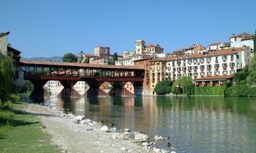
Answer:
[{"label": "rounded dark green tree at the waterside below the yellow building", "polygon": [[157,95],[165,95],[171,92],[171,84],[173,84],[173,82],[170,80],[163,80],[158,82],[154,88],[154,92],[156,92]]}]

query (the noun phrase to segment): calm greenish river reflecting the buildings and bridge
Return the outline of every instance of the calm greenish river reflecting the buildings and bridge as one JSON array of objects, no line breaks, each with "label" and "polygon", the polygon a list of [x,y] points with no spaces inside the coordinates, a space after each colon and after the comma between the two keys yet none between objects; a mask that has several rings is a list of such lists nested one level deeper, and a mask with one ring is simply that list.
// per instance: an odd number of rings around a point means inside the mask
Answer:
[{"label": "calm greenish river reflecting the buildings and bridge", "polygon": [[[118,129],[143,131],[150,141],[154,135],[169,136],[176,152],[256,152],[255,98],[51,97],[44,103],[107,126],[113,122]],[[167,148],[168,141],[158,146]]]}]

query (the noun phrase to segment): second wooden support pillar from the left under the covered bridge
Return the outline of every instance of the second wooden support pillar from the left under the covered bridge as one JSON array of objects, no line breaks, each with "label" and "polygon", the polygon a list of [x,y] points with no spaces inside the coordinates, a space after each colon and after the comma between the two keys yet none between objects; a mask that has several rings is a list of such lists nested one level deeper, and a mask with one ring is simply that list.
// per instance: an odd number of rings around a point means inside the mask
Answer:
[{"label": "second wooden support pillar from the left under the covered bridge", "polygon": [[60,80],[62,86],[64,87],[57,97],[81,97],[79,92],[77,92],[73,86],[77,81],[74,80]]}]

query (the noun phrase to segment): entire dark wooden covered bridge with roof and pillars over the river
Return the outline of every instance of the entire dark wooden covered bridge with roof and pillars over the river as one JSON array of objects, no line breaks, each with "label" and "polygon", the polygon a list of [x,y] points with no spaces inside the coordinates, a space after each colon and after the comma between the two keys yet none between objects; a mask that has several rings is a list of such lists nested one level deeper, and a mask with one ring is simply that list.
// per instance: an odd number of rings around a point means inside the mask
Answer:
[{"label": "entire dark wooden covered bridge with roof and pillars over the river", "polygon": [[[24,72],[24,80],[30,80],[35,86],[31,97],[44,97],[44,84],[50,80],[59,81],[64,86],[59,94],[61,97],[81,96],[73,88],[78,81],[85,81],[90,87],[85,96],[131,95],[124,88],[126,82],[132,82],[134,94],[139,95],[143,86],[144,69],[141,67],[24,60],[19,65]],[[103,82],[113,86],[109,93],[100,89]]]}]

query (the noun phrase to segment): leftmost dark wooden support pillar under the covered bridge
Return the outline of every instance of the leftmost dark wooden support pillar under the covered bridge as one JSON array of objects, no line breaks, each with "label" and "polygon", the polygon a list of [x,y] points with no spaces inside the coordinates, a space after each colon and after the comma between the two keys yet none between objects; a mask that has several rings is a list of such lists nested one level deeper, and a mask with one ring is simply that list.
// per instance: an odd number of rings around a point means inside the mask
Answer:
[{"label": "leftmost dark wooden support pillar under the covered bridge", "polygon": [[44,90],[44,84],[46,84],[47,81],[45,80],[31,80],[31,83],[35,87],[33,91],[31,92],[30,96],[31,98],[44,98],[47,97],[47,93]]}]

